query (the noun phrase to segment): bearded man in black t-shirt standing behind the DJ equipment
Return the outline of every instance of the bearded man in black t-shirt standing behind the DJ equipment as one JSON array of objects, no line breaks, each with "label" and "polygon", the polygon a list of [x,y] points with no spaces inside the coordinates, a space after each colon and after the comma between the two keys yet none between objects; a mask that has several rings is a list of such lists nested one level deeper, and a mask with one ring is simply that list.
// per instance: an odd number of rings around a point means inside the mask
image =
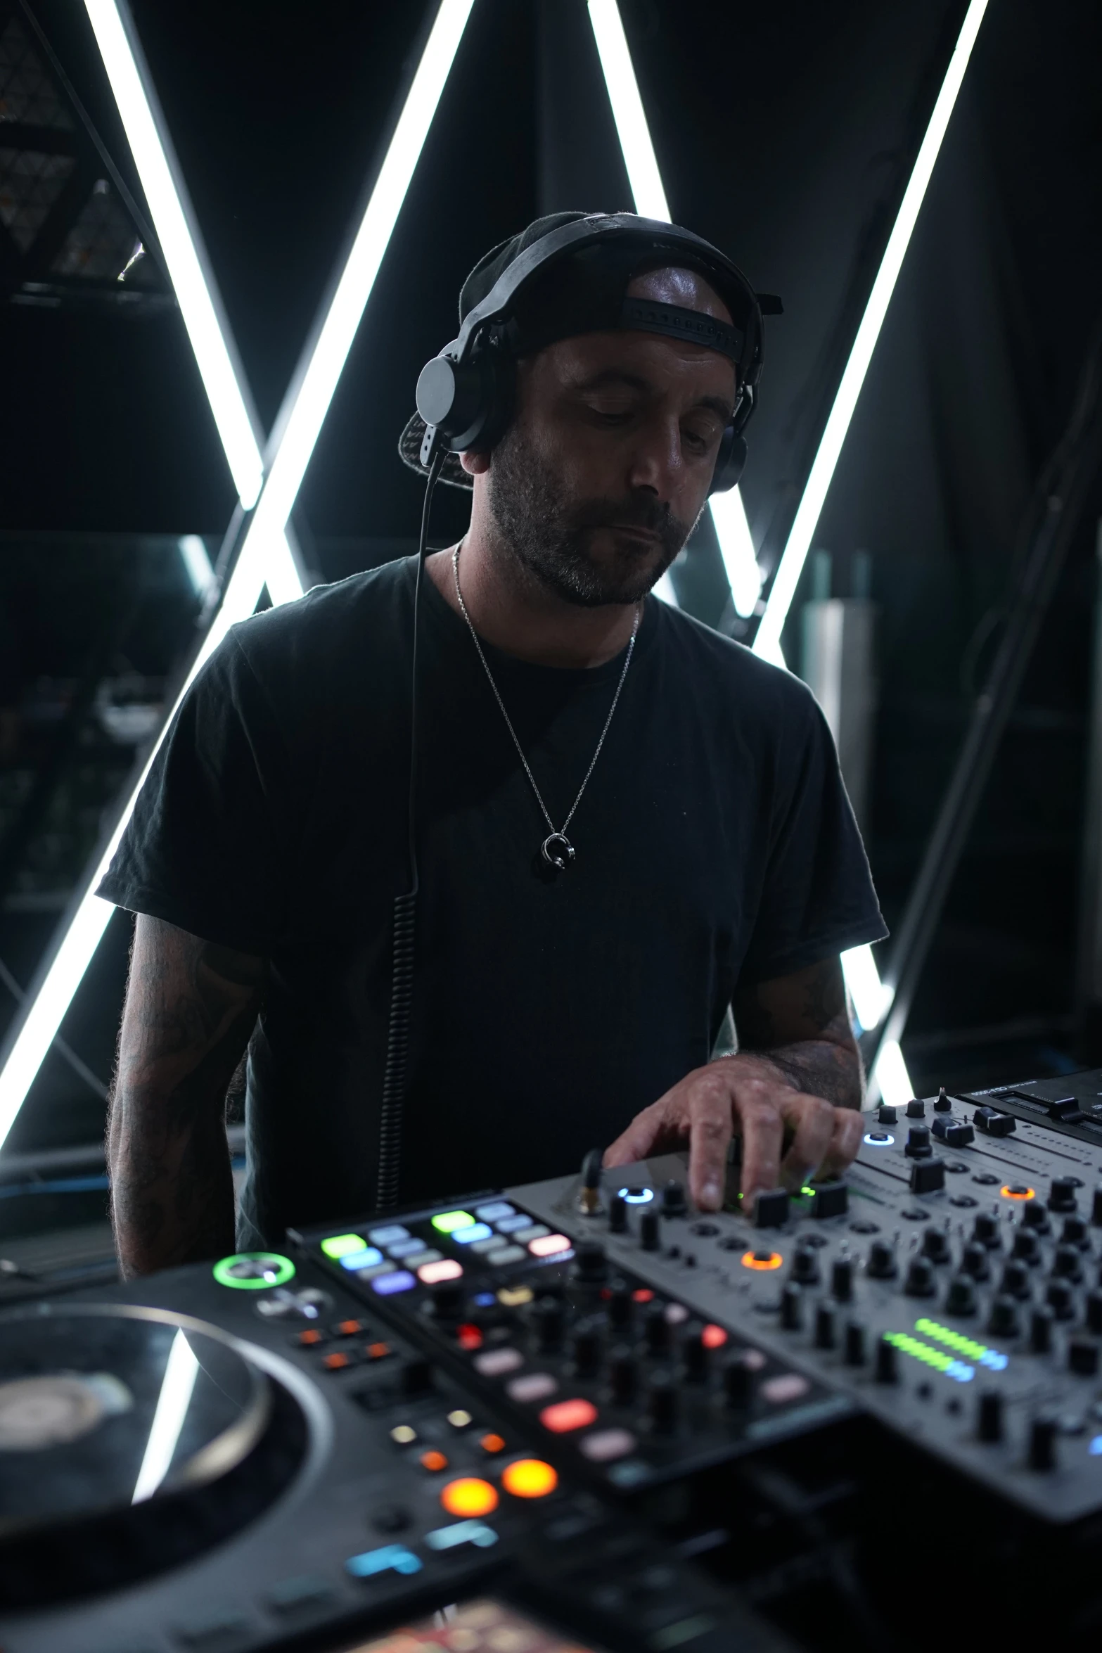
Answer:
[{"label": "bearded man in black t-shirt standing behind the DJ equipment", "polygon": [[[575,217],[487,255],[461,319]],[[620,291],[730,322],[689,264],[651,253]],[[463,455],[469,532],[426,562],[403,1202],[687,1141],[715,1208],[732,1129],[748,1198],[859,1141],[838,954],[884,927],[829,734],[795,678],[648,595],[707,498],[737,369],[595,326],[587,279],[527,294],[512,418]],[[238,1243],[372,1207],[415,564],[233,628],[101,886],[139,914],[109,1122],[126,1273],[233,1248],[223,1099],[246,1043]],[[740,1050],[709,1061],[727,1007]]]}]

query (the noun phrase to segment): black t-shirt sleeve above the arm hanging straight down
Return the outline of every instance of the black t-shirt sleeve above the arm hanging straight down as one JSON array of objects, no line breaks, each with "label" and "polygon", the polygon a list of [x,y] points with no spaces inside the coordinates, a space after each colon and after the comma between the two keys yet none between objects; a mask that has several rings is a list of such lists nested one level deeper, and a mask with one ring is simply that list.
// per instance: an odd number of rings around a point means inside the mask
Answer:
[{"label": "black t-shirt sleeve above the arm hanging straight down", "polygon": [[243,952],[279,939],[287,755],[233,631],[188,689],[96,891]]}]

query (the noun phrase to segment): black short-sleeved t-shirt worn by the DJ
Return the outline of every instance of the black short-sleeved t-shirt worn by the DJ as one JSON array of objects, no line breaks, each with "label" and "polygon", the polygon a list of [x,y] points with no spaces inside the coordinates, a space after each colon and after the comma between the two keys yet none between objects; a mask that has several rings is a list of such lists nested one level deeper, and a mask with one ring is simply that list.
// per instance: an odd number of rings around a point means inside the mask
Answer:
[{"label": "black short-sleeved t-shirt worn by the DJ", "polygon": [[[157,755],[99,894],[266,954],[240,1238],[375,1195],[393,898],[406,888],[415,559],[235,626]],[[737,982],[886,934],[808,689],[648,598],[616,716],[547,825],[464,622],[423,584],[418,901],[401,1198],[573,1169],[709,1060]],[[623,655],[486,645],[555,823]]]}]

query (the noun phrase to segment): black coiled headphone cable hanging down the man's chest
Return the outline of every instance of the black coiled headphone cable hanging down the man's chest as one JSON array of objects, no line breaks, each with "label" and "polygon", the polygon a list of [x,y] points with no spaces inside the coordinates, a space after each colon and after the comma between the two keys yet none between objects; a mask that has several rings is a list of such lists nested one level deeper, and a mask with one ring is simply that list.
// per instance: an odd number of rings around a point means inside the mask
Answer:
[{"label": "black coiled headphone cable hanging down the man's chest", "polygon": [[410,1066],[410,1023],[413,1020],[413,964],[416,952],[416,660],[421,615],[421,570],[428,552],[428,517],[436,478],[444,463],[441,448],[428,473],[425,504],[421,507],[421,539],[416,552],[416,582],[413,585],[413,663],[410,668],[410,798],[406,805],[410,888],[395,896],[393,962],[390,977],[390,1025],[387,1028],[387,1068],[383,1069],[383,1098],[378,1124],[378,1175],[375,1179],[375,1207],[392,1210],[398,1203],[398,1177],[401,1174],[401,1114]]}]

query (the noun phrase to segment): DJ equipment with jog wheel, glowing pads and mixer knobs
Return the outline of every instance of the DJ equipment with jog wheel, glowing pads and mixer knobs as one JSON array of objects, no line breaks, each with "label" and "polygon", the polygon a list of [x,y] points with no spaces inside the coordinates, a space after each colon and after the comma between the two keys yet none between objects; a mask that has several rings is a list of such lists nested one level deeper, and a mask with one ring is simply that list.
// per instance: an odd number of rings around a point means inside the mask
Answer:
[{"label": "DJ equipment with jog wheel, glowing pads and mixer knobs", "polygon": [[1102,1071],[0,1314],[3,1653],[1087,1646],[1100,1546]]}]

